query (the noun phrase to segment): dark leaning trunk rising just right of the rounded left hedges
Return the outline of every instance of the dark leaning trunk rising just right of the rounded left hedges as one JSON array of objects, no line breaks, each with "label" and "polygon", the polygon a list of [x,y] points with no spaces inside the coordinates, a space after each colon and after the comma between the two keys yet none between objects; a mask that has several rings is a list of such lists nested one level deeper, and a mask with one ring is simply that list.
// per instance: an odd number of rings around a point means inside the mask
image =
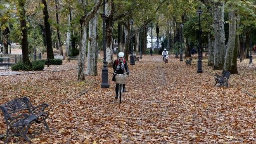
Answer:
[{"label": "dark leaning trunk rising just right of the rounded left hedges", "polygon": [[51,26],[49,23],[49,14],[47,10],[47,4],[45,0],[42,0],[44,5],[43,8],[43,15],[44,15],[44,24],[45,24],[45,39],[46,39],[46,52],[47,52],[47,59],[54,59],[53,49],[52,49],[52,33],[51,33]]}]

